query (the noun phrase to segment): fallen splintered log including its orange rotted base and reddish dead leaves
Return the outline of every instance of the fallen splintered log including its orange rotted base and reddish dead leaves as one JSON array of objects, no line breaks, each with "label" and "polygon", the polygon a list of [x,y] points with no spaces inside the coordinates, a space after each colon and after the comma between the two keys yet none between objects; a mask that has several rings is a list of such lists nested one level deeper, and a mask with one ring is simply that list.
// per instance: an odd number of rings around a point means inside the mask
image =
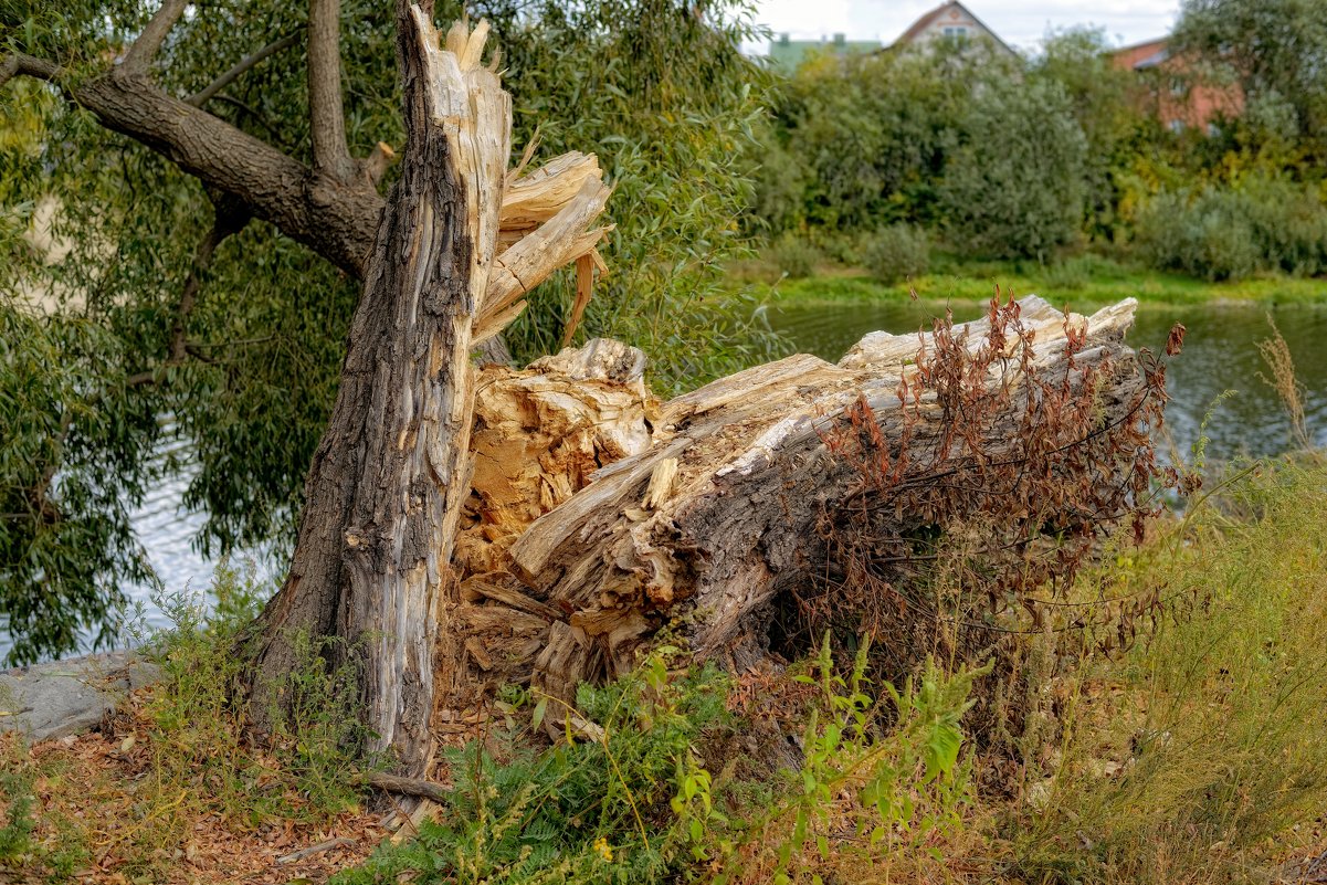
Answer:
[{"label": "fallen splintered log including its orange rotted base and reddish dead leaves", "polygon": [[1031,536],[1051,519],[1031,513],[1040,499],[1059,507],[1056,531],[1127,517],[1164,398],[1124,344],[1135,306],[993,304],[977,322],[872,333],[837,365],[799,354],[662,405],[638,370],[577,379],[587,352],[486,370],[458,543],[472,662],[488,671],[478,658],[506,653],[503,678],[571,698],[673,624],[698,659],[744,669],[767,653],[771,602],[824,569],[823,527],[847,510],[897,537],[995,503],[1022,508]]}]

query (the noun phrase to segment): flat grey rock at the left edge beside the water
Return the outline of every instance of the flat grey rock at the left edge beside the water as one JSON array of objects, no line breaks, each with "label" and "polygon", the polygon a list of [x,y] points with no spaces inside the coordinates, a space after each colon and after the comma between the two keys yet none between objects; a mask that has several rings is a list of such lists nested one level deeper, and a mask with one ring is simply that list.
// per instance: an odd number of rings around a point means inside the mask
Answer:
[{"label": "flat grey rock at the left edge beside the water", "polygon": [[161,678],[133,651],[35,663],[0,673],[0,731],[45,740],[90,731],[134,689]]}]

